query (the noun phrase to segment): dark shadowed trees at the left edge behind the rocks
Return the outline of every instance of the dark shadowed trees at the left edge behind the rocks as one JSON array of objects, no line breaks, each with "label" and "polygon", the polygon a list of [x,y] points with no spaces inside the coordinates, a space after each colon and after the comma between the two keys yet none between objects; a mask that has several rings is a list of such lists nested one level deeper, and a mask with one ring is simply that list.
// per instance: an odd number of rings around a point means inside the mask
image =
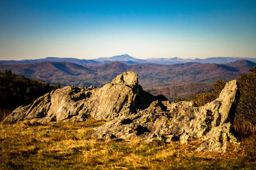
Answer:
[{"label": "dark shadowed trees at the left edge behind the rocks", "polygon": [[60,88],[44,81],[30,80],[17,76],[10,70],[0,72],[0,121],[12,110],[23,104],[29,104],[51,90]]}]

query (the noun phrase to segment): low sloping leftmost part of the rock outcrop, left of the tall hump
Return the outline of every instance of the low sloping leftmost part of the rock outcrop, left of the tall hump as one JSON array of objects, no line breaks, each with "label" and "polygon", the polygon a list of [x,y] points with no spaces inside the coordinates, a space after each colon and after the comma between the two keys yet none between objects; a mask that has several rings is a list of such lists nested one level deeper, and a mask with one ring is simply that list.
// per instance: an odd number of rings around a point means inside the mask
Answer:
[{"label": "low sloping leftmost part of the rock outcrop, left of the tall hump", "polygon": [[40,122],[68,120],[79,115],[83,104],[95,90],[73,86],[52,90],[34,103],[15,109],[3,122],[15,123],[35,118]]}]

